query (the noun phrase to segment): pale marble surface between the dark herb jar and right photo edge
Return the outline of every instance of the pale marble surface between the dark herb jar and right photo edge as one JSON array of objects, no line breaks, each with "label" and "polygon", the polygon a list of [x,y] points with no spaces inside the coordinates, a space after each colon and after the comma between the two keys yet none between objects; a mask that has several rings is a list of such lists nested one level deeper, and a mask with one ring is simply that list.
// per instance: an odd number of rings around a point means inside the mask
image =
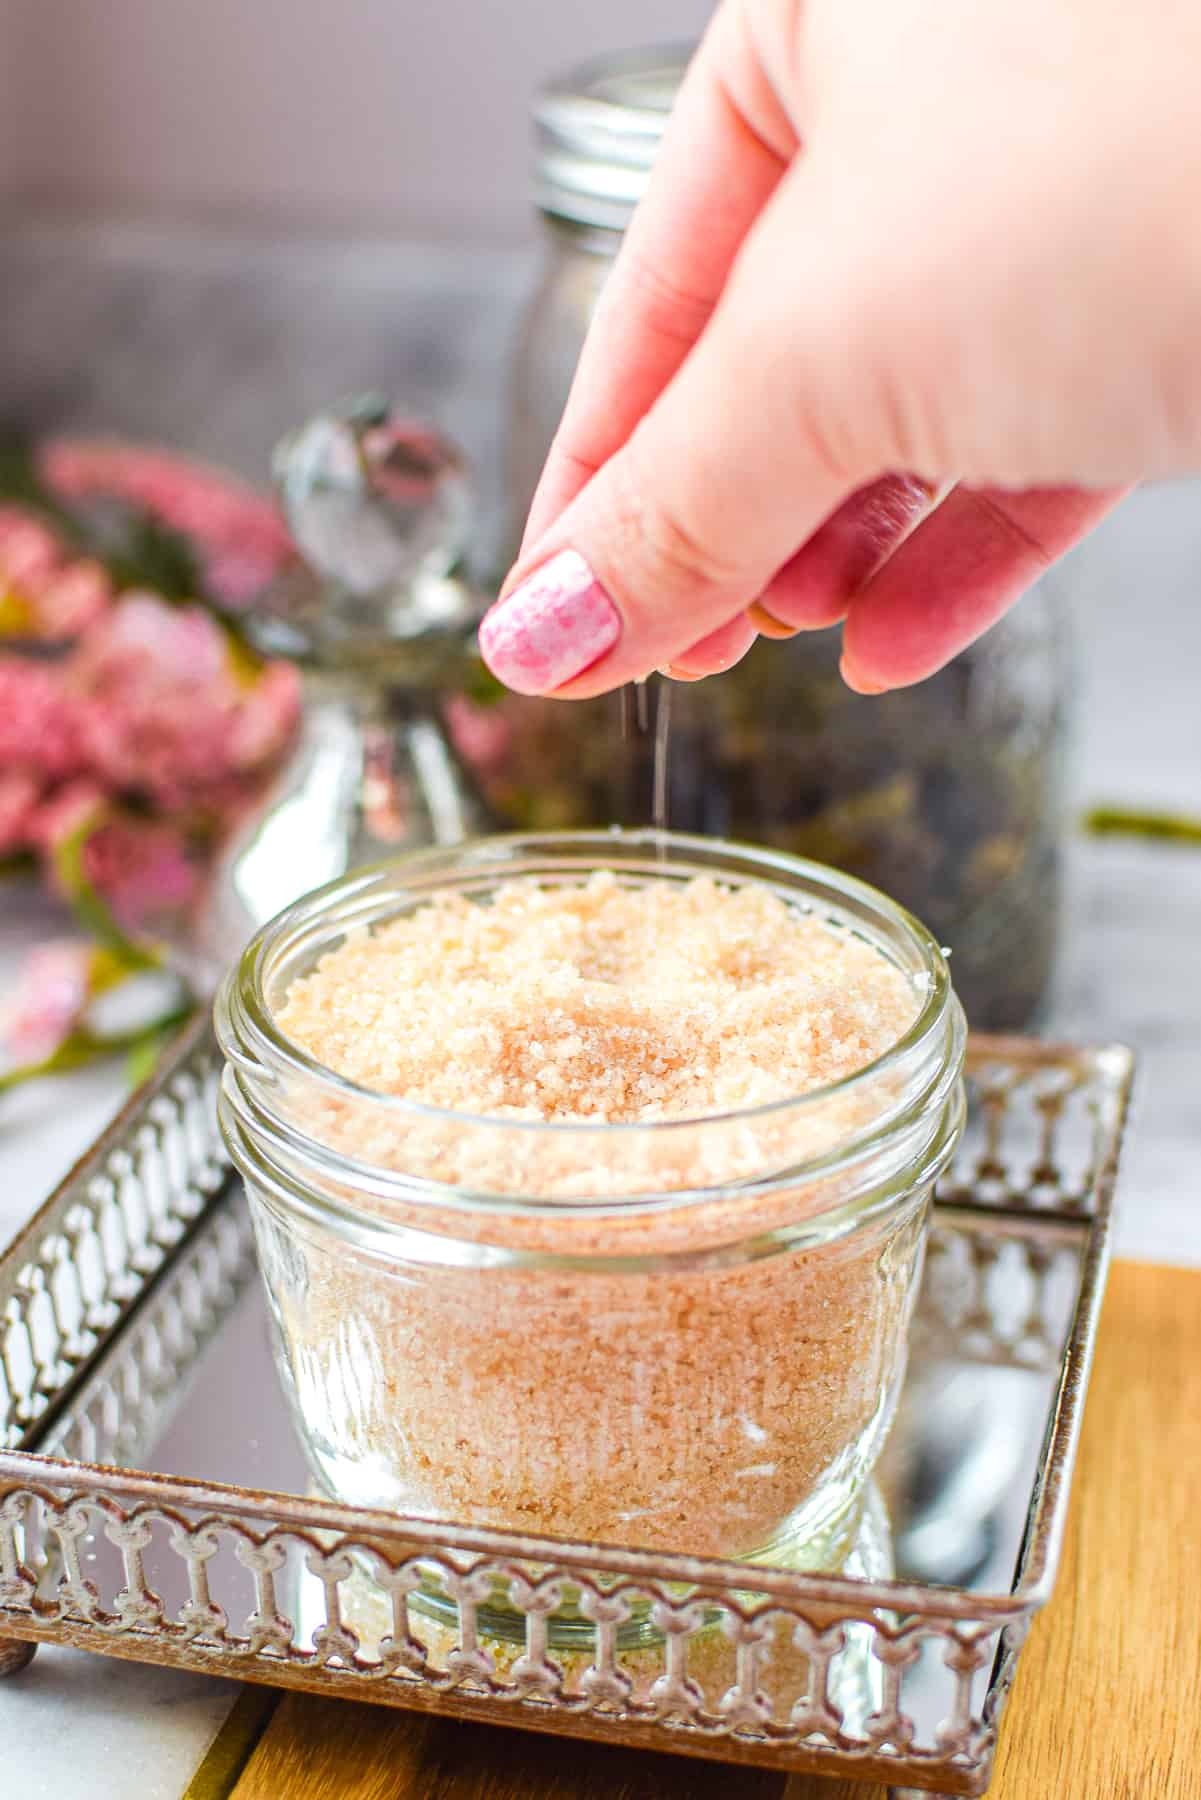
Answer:
[{"label": "pale marble surface between the dark herb jar and right photo edge", "polygon": [[[1133,495],[1066,571],[1075,810],[1201,815],[1201,482]],[[1201,850],[1077,841],[1048,1031],[1140,1058],[1118,1253],[1201,1264]]]}]

